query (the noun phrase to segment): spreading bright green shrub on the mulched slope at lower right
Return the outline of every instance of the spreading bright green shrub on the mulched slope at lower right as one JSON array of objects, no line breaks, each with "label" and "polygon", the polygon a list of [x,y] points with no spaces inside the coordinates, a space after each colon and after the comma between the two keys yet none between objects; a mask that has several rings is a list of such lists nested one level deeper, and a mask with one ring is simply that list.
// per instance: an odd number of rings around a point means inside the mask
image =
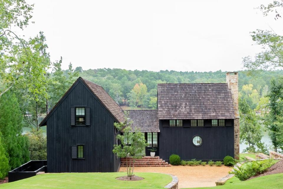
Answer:
[{"label": "spreading bright green shrub on the mulched slope at lower right", "polygon": [[273,159],[265,159],[261,161],[252,161],[243,164],[241,167],[236,166],[238,169],[233,169],[230,173],[234,174],[239,180],[247,180],[250,177],[261,174],[276,162]]}]

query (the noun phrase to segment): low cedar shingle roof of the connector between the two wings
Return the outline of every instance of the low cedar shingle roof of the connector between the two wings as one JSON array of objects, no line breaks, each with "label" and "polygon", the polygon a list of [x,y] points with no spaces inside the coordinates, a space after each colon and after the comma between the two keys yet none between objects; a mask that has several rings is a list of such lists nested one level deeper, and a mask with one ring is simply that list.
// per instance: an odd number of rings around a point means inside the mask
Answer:
[{"label": "low cedar shingle roof of the connector between the two wings", "polygon": [[125,110],[128,113],[129,121],[132,131],[135,128],[140,129],[141,132],[160,132],[158,110]]}]

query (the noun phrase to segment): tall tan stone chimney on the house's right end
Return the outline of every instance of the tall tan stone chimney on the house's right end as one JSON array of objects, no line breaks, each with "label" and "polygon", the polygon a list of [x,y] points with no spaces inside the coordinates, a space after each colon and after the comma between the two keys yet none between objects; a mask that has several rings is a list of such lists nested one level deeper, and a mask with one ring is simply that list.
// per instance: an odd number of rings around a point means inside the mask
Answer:
[{"label": "tall tan stone chimney on the house's right end", "polygon": [[238,72],[227,72],[226,82],[231,90],[233,105],[235,110],[234,119],[234,156],[239,159],[240,155],[240,115],[239,115],[239,100],[238,100]]}]

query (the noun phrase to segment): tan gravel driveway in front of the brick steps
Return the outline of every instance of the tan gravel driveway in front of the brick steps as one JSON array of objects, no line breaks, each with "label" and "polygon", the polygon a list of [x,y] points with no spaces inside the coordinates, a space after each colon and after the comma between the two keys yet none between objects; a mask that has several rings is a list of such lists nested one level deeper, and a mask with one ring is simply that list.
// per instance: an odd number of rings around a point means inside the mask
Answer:
[{"label": "tan gravel driveway in front of the brick steps", "polygon": [[[126,172],[126,167],[120,167],[119,172]],[[216,186],[215,182],[225,177],[231,167],[226,166],[171,166],[171,167],[134,167],[134,172],[160,172],[176,175],[179,188],[195,188]]]}]

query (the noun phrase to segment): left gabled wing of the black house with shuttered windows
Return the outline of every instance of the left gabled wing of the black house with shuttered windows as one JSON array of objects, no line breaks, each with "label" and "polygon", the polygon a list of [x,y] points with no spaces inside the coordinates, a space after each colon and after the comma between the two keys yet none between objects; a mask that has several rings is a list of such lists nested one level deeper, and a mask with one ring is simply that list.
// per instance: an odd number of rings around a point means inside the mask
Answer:
[{"label": "left gabled wing of the black house with shuttered windows", "polygon": [[40,123],[47,126],[47,172],[117,171],[113,123],[123,121],[107,92],[79,77]]}]

